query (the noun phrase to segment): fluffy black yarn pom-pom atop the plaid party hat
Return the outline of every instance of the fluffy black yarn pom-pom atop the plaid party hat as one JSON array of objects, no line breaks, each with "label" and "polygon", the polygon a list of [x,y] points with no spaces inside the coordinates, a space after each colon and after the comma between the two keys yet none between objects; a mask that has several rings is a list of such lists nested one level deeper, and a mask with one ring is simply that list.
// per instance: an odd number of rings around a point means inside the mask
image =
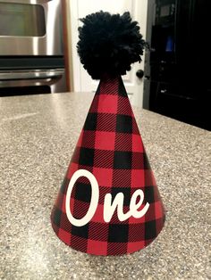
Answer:
[{"label": "fluffy black yarn pom-pom atop the plaid party hat", "polygon": [[79,28],[78,53],[92,78],[124,75],[131,70],[131,63],[141,61],[146,43],[129,12],[121,16],[100,11],[80,21],[83,26]]}]

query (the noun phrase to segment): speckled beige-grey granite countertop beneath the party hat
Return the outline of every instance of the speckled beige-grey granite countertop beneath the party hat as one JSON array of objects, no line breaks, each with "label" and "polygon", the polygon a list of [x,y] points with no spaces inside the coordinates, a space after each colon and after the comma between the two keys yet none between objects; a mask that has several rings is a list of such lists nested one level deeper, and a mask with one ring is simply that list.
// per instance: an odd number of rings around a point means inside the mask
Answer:
[{"label": "speckled beige-grey granite countertop beneath the party hat", "polygon": [[165,227],[121,257],[74,251],[50,212],[93,95],[0,98],[0,279],[211,279],[211,134],[135,109]]}]

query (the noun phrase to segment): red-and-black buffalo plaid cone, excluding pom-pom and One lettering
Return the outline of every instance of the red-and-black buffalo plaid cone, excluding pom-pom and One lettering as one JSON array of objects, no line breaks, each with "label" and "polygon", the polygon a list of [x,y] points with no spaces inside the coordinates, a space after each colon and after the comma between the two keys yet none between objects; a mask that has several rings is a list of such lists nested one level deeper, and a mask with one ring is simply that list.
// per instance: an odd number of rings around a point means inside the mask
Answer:
[{"label": "red-and-black buffalo plaid cone, excluding pom-pom and One lettering", "polygon": [[[66,216],[65,200],[72,175],[87,169],[99,185],[97,210],[85,226],[73,226]],[[141,218],[120,221],[117,210],[110,222],[103,218],[105,194],[124,195],[123,212],[130,210],[131,196],[137,189],[144,193],[139,210],[149,203]],[[72,189],[70,208],[74,218],[89,210],[91,185],[80,177]],[[55,234],[78,251],[95,255],[121,255],[138,251],[151,243],[165,222],[165,210],[148,162],[139,128],[131,110],[122,78],[101,80],[72,161],[63,179],[51,214]]]}]

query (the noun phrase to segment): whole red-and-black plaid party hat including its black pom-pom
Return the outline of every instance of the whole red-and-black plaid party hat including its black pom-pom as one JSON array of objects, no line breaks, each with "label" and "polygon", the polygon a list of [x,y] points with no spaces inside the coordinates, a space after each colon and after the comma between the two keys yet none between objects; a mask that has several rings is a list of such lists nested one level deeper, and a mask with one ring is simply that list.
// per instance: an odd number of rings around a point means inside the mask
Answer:
[{"label": "whole red-and-black plaid party hat including its black pom-pom", "polygon": [[139,60],[144,41],[128,12],[122,16],[97,12],[82,21],[80,60],[92,78],[101,80],[51,222],[55,234],[75,250],[95,255],[131,253],[151,243],[165,222],[164,206],[120,76]]}]

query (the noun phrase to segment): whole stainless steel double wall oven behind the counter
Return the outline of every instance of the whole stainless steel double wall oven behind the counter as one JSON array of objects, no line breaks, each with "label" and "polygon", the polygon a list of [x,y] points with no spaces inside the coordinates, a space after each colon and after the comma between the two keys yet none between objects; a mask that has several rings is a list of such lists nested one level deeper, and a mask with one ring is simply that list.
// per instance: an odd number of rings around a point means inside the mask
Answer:
[{"label": "whole stainless steel double wall oven behind the counter", "polygon": [[66,90],[62,0],[0,0],[0,95],[23,86]]}]

